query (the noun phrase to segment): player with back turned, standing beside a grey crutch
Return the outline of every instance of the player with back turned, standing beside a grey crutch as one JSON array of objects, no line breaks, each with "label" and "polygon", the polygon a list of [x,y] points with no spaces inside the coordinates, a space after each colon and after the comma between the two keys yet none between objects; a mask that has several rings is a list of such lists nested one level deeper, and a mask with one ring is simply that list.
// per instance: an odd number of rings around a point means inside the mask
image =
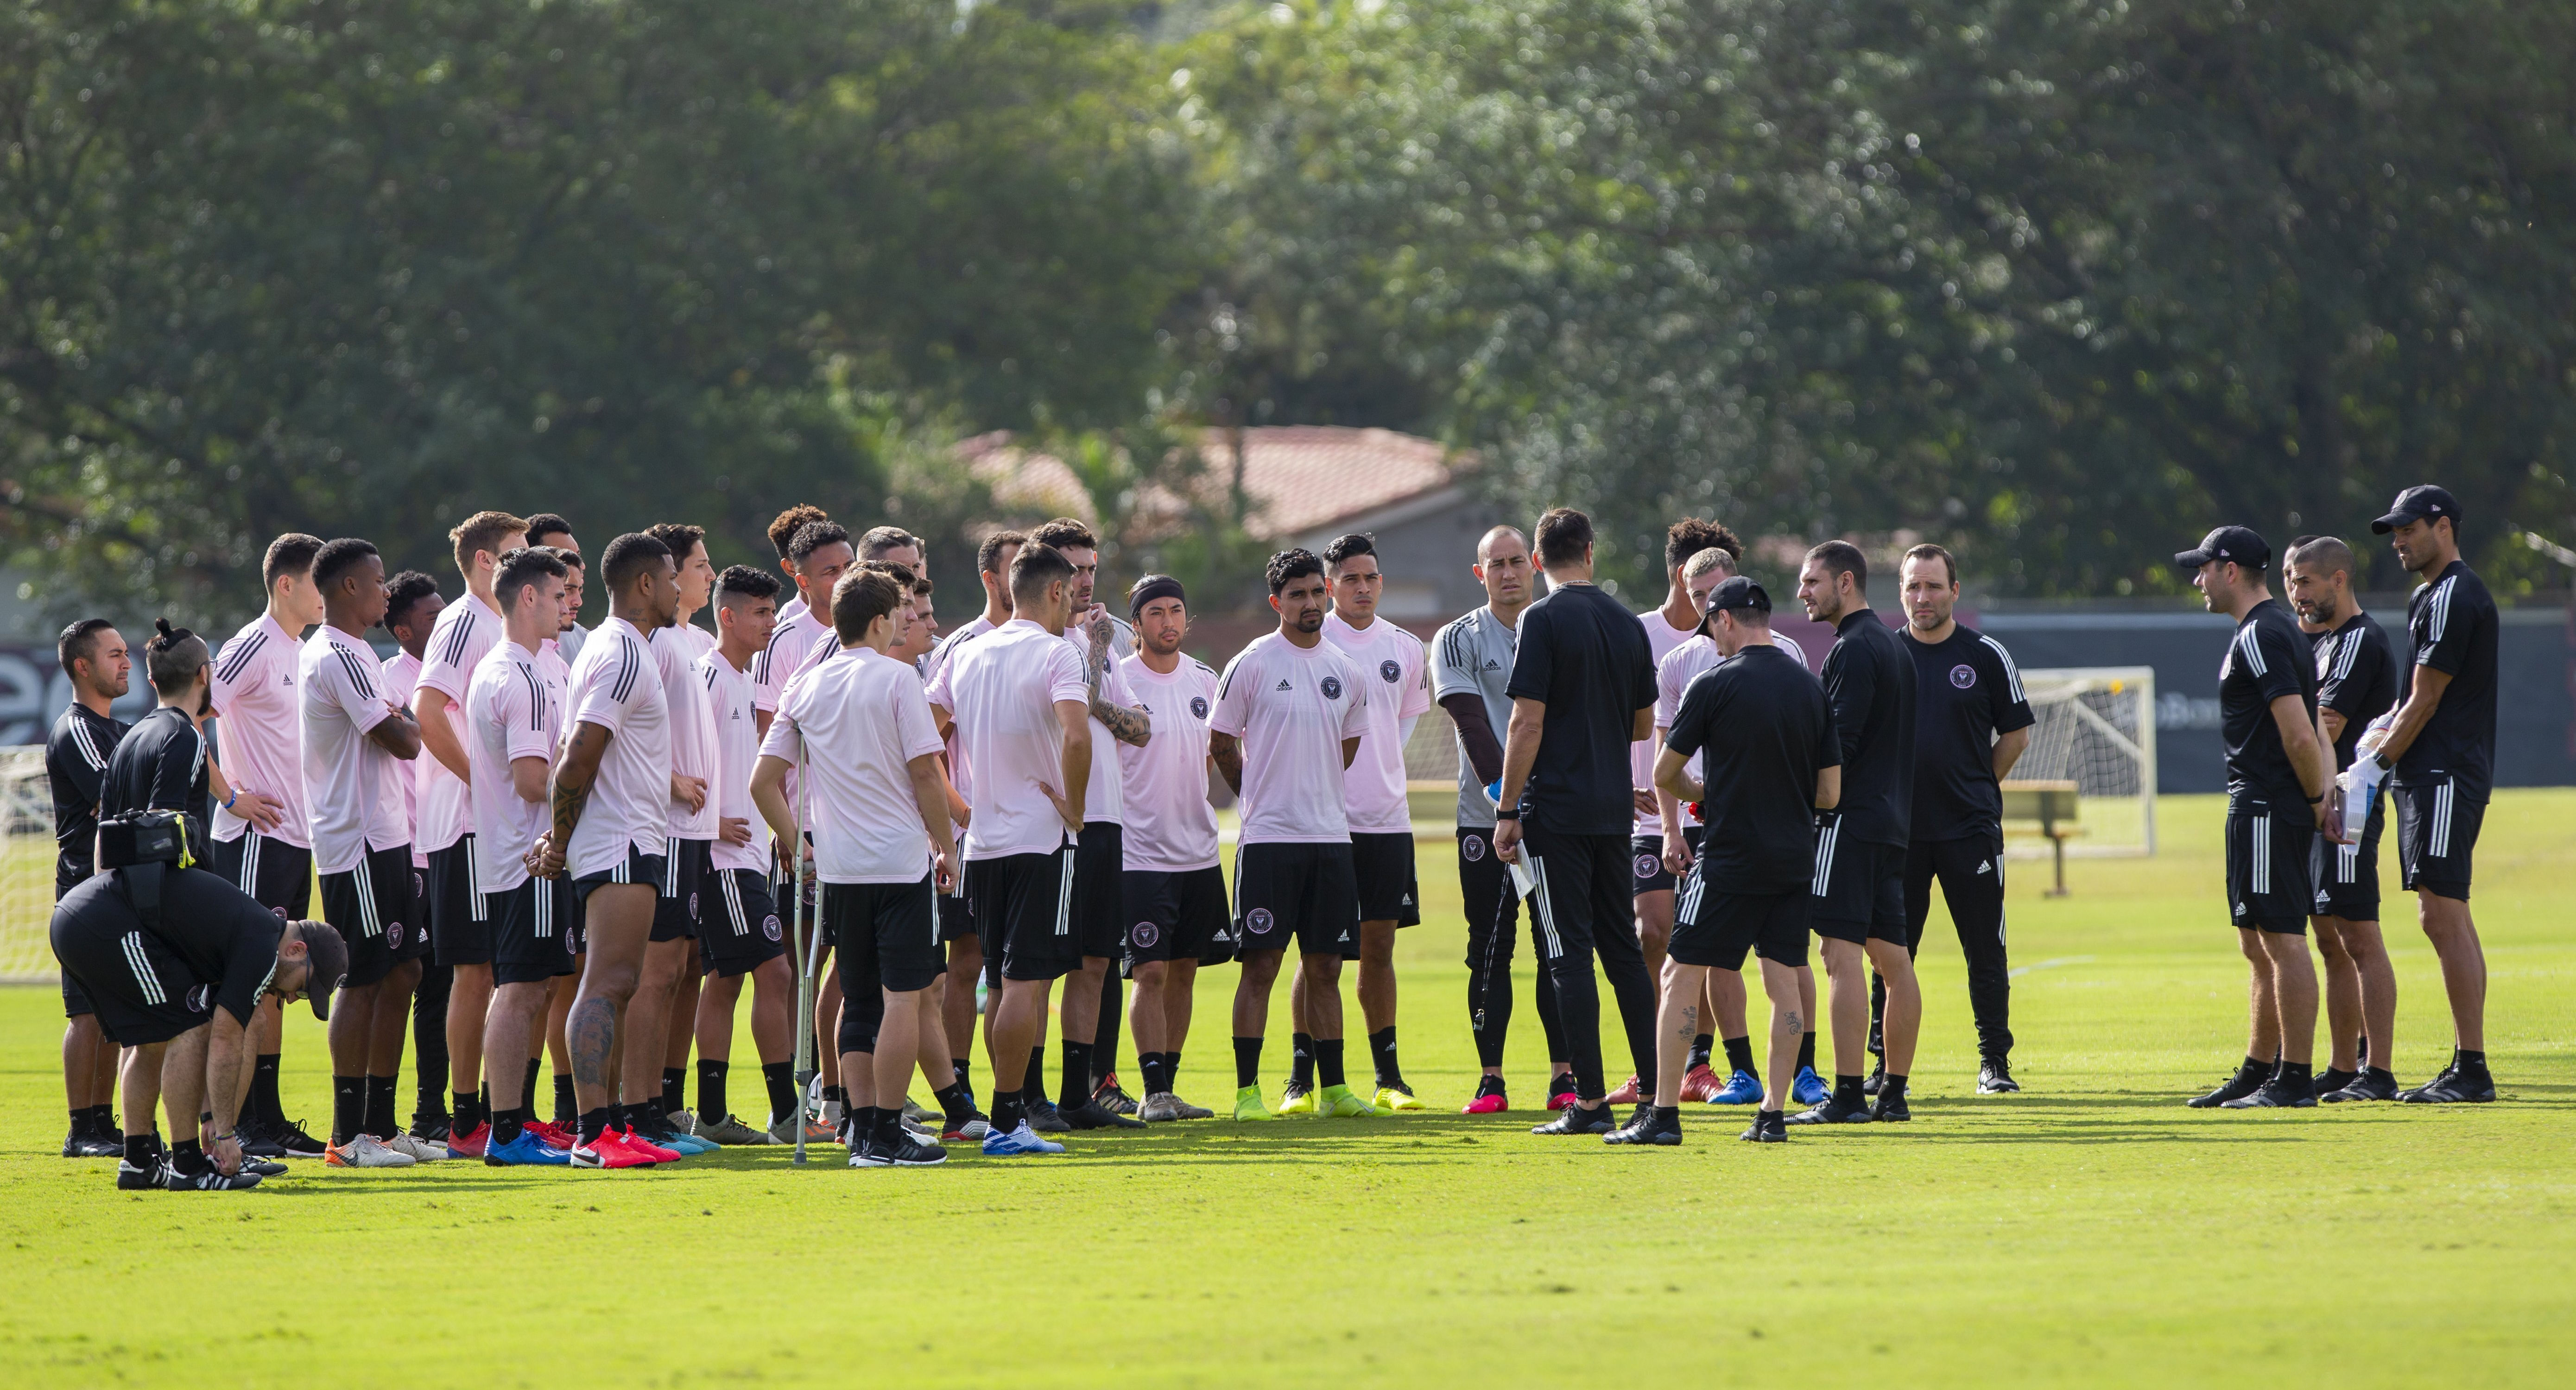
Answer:
[{"label": "player with back turned, standing beside a grey crutch", "polygon": [[[835,934],[853,1169],[948,1161],[904,1125],[917,1040],[935,1037],[930,988],[940,970],[933,896],[956,878],[940,734],[920,672],[889,656],[912,595],[886,566],[863,564],[832,592],[840,656],[791,682],[760,744],[752,801],[793,844],[814,829],[819,922]],[[786,780],[801,770],[801,819]]]}]

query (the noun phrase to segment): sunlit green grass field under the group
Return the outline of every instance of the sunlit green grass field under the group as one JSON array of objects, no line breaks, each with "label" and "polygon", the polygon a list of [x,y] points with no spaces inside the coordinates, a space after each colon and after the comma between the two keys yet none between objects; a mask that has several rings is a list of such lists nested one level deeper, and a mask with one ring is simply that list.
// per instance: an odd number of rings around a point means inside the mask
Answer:
[{"label": "sunlit green grass field under the group", "polygon": [[[2076,862],[2071,898],[2014,865],[2027,1094],[1973,1094],[1937,922],[1917,1122],[1780,1148],[1708,1107],[1643,1153],[1455,1115],[1463,927],[1430,839],[1401,1037],[1440,1112],[1074,1135],[1056,1161],[799,1171],[765,1148],[118,1194],[111,1163],[54,1156],[59,1009],[8,988],[0,1385],[2566,1385],[2576,790],[2486,816],[2501,1104],[2458,1109],[2182,1109],[2244,1045],[2218,813],[2166,798],[2166,852]],[[2385,870],[2398,1076],[2421,1081],[2447,1017]],[[1208,1104],[1231,1091],[1231,988],[1203,983],[1182,1068]],[[289,1109],[327,1117],[319,1024],[294,1017]],[[1283,991],[1273,1073],[1285,1032]]]}]

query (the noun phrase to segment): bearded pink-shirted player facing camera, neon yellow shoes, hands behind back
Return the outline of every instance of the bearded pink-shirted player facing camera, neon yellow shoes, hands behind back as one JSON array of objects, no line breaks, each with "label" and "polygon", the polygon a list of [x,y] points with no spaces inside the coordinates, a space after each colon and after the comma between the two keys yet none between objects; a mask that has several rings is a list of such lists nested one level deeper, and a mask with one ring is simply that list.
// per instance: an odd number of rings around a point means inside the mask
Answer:
[{"label": "bearded pink-shirted player facing camera, neon yellow shoes, hands behind back", "polygon": [[[1321,1091],[1316,1115],[1376,1115],[1342,1079],[1342,958],[1360,950],[1360,885],[1350,860],[1342,775],[1368,731],[1373,677],[1324,641],[1324,561],[1270,556],[1275,633],[1226,662],[1208,752],[1242,798],[1234,849],[1234,1117],[1273,1120],[1262,1104],[1262,1032],[1288,942],[1306,976],[1306,1027]],[[1293,1097],[1291,1097],[1293,1099]]]}]

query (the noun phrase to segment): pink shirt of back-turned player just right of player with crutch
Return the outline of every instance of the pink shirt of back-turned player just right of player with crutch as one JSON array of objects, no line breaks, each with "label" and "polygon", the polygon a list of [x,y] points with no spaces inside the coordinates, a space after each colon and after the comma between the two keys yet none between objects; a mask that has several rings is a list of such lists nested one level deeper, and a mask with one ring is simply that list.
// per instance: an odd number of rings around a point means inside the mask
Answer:
[{"label": "pink shirt of back-turned player just right of player with crutch", "polygon": [[[1041,785],[1064,780],[1064,726],[1056,703],[1087,703],[1082,662],[1056,633],[1012,618],[958,651],[940,680],[958,746],[974,767],[969,860],[1054,855],[1072,842]],[[1061,790],[1061,788],[1059,788]],[[1084,811],[1087,813],[1087,811]]]}]

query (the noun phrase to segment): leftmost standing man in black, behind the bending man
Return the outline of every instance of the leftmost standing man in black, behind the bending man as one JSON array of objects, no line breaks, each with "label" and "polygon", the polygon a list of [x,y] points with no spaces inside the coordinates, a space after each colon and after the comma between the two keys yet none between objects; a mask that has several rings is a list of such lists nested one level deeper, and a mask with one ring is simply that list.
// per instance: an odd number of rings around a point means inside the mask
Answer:
[{"label": "leftmost standing man in black, behind the bending man", "polygon": [[[134,662],[126,638],[106,618],[82,618],[54,644],[62,674],[72,677],[72,703],[62,708],[44,739],[44,780],[54,793],[54,901],[90,878],[98,847],[98,788],[108,775],[108,754],[126,736],[124,721],[108,705],[126,692]],[[116,1048],[98,1032],[90,999],[62,976],[62,1099],[72,1109],[72,1130],[62,1138],[64,1158],[113,1158],[124,1153],[116,1130]]]}]

